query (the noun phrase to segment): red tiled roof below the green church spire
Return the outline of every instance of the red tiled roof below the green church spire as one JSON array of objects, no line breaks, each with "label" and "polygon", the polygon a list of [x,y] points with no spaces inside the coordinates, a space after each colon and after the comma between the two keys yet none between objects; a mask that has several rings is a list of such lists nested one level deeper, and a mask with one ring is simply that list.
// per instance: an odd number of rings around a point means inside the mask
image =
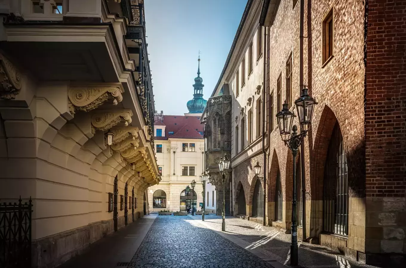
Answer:
[{"label": "red tiled roof below the green church spire", "polygon": [[[164,121],[156,121],[155,125],[165,125],[165,137],[155,137],[155,140],[168,138],[203,139],[203,124],[200,117],[190,115],[164,115]],[[173,132],[173,134],[168,134]],[[163,134],[163,133],[162,133]]]}]

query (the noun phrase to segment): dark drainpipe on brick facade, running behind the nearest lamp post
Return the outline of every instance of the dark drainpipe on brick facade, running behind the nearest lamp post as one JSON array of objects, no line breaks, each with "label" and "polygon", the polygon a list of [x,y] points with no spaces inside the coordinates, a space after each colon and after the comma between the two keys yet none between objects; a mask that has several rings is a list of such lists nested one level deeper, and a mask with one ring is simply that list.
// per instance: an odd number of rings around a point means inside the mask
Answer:
[{"label": "dark drainpipe on brick facade, running behind the nearest lamp post", "polygon": [[[300,94],[303,89],[303,28],[304,28],[304,0],[300,0],[300,26],[299,26],[299,87]],[[300,130],[303,130],[300,125]],[[300,144],[300,168],[302,173],[302,240],[307,241],[306,232],[306,174],[304,169],[304,142]],[[296,170],[295,170],[296,172]]]}]

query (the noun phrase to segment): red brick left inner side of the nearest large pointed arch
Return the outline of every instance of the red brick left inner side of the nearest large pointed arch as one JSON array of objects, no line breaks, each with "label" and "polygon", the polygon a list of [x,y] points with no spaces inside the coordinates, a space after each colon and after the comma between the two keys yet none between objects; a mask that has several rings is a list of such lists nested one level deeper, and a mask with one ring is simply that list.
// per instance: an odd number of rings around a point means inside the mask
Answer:
[{"label": "red brick left inner side of the nearest large pointed arch", "polygon": [[323,199],[324,165],[326,163],[330,137],[336,122],[337,117],[334,112],[330,107],[325,105],[318,124],[313,152],[310,157],[310,190],[312,200]]}]

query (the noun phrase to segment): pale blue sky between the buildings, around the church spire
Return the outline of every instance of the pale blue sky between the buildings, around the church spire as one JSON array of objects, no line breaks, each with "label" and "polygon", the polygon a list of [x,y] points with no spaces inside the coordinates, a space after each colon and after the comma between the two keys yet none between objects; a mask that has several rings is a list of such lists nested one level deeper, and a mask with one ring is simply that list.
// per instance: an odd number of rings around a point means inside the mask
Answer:
[{"label": "pale blue sky between the buildings, around the church spire", "polygon": [[145,27],[155,110],[188,112],[199,50],[203,98],[212,94],[247,0],[146,0]]}]

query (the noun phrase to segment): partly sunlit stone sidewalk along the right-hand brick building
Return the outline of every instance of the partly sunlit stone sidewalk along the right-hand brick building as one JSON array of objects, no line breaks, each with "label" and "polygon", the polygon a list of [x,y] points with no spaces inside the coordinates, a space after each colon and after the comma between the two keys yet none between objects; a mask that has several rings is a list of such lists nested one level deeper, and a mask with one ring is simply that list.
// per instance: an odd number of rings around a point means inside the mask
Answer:
[{"label": "partly sunlit stone sidewalk along the right-hand brick building", "polygon": [[[194,225],[205,225],[212,230],[221,230],[221,216],[189,216]],[[279,232],[273,227],[235,217],[226,217],[226,234],[245,249],[255,249],[278,262],[289,266],[291,235]],[[299,243],[299,265],[306,268],[376,268],[354,262],[341,253],[320,245]]]}]

